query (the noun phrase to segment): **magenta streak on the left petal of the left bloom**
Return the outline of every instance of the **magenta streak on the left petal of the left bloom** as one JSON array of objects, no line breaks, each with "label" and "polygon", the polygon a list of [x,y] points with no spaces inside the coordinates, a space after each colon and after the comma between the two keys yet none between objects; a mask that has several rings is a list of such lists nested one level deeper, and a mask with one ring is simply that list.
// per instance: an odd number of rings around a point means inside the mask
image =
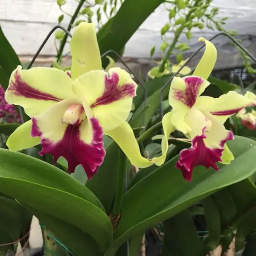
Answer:
[{"label": "magenta streak on the left petal of the left bloom", "polygon": [[23,96],[29,99],[38,99],[38,100],[51,100],[59,102],[63,99],[56,98],[55,96],[52,96],[49,93],[43,93],[40,90],[37,90],[29,84],[27,84],[25,81],[21,79],[20,74],[18,73],[18,70],[14,74],[14,81],[10,82],[9,91],[12,91],[17,96]]}]

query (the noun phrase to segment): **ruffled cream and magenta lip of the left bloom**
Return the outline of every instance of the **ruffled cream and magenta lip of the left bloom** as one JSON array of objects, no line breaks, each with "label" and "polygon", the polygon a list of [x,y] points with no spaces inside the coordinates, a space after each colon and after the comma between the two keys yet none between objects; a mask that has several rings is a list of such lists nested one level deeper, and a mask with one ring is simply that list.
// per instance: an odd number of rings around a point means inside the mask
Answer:
[{"label": "ruffled cream and magenta lip of the left bloom", "polygon": [[105,157],[103,131],[96,118],[86,118],[77,125],[63,123],[65,111],[74,104],[67,99],[32,118],[32,136],[39,136],[42,150],[39,154],[52,154],[53,163],[60,156],[68,162],[68,172],[81,164],[91,179]]}]

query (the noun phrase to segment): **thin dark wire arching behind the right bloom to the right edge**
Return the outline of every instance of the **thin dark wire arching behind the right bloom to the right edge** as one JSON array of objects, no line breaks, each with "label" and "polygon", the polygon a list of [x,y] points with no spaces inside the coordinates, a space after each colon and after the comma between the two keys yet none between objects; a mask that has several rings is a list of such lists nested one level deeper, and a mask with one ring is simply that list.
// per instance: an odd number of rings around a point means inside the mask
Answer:
[{"label": "thin dark wire arching behind the right bloom to the right edge", "polygon": [[[213,36],[212,38],[209,39],[209,41],[212,41],[214,40],[215,38],[217,38],[218,36],[220,35],[225,35],[227,36],[228,38],[230,38],[231,41],[233,41],[234,44],[236,44],[237,47],[239,47],[240,49],[242,49],[244,51],[244,53],[246,53],[255,63],[256,63],[256,58],[250,54],[250,52],[247,51],[247,49],[245,49],[238,41],[236,41],[235,38],[233,38],[231,35],[225,33],[225,32],[220,32],[218,33],[217,35]],[[179,68],[179,70],[173,75],[170,77],[170,79],[164,84],[164,86],[162,87],[162,89],[160,90],[160,114],[161,114],[161,117],[163,118],[163,105],[162,105],[162,101],[163,101],[163,96],[162,96],[162,92],[163,90],[166,88],[166,86],[168,84],[170,84],[170,82],[172,81],[172,79],[180,72],[180,70],[183,69],[183,67],[186,66],[186,64],[189,63],[189,61],[192,60],[192,58],[195,57],[195,55],[198,54],[198,52],[201,51],[201,49],[203,49],[205,47],[205,44],[202,45],[201,47],[199,47],[189,58],[188,60]]]}]

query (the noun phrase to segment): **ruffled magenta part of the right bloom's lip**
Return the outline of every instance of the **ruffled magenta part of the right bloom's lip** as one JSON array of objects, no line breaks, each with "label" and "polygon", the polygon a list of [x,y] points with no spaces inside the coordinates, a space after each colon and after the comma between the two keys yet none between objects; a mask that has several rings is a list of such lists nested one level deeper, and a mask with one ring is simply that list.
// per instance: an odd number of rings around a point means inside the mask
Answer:
[{"label": "ruffled magenta part of the right bloom's lip", "polygon": [[216,171],[219,171],[217,162],[221,162],[222,152],[224,150],[224,144],[227,140],[233,140],[234,135],[230,131],[227,138],[221,141],[221,148],[208,148],[204,144],[206,138],[205,129],[203,128],[202,135],[197,135],[192,140],[191,148],[185,148],[180,151],[180,158],[176,163],[176,168],[180,169],[185,180],[191,181],[192,172],[195,166],[205,166],[207,169],[212,167]]}]

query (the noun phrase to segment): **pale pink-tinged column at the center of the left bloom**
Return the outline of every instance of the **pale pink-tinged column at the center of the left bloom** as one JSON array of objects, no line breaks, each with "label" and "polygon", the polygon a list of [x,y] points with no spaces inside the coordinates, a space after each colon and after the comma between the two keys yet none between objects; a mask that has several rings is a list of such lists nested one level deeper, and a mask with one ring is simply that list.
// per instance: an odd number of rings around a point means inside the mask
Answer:
[{"label": "pale pink-tinged column at the center of the left bloom", "polygon": [[81,104],[73,104],[68,108],[63,117],[62,123],[68,125],[79,125],[86,118],[84,107]]}]

